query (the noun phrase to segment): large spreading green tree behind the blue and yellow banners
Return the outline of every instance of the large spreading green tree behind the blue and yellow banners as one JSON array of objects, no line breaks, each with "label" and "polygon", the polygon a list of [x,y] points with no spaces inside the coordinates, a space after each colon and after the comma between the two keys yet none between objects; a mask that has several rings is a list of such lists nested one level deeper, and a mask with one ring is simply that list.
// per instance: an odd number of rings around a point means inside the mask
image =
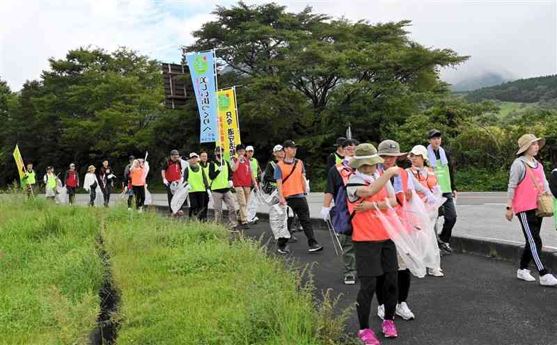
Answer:
[{"label": "large spreading green tree behind the blue and yellow banners", "polygon": [[321,166],[323,149],[348,122],[362,141],[385,136],[388,124],[402,124],[426,99],[446,93],[441,67],[467,58],[411,41],[407,20],[372,25],[310,7],[288,13],[276,3],[240,2],[213,14],[182,50],[217,49],[233,70],[230,83],[243,86],[242,136],[268,147],[299,139]]}]

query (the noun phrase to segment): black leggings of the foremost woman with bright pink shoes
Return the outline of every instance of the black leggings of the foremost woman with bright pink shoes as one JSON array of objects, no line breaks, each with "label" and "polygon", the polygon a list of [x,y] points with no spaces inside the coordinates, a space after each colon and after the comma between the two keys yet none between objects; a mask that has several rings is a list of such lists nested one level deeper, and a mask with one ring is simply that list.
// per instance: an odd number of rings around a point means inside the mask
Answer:
[{"label": "black leggings of the foremost woman with bright pink shoes", "polygon": [[[395,308],[397,299],[397,273],[385,272],[384,274],[384,291],[386,300],[385,304],[385,320],[395,319]],[[375,292],[377,277],[360,277],[360,291],[356,299],[356,311],[358,312],[358,321],[360,330],[370,328],[370,310],[371,300]]]}]

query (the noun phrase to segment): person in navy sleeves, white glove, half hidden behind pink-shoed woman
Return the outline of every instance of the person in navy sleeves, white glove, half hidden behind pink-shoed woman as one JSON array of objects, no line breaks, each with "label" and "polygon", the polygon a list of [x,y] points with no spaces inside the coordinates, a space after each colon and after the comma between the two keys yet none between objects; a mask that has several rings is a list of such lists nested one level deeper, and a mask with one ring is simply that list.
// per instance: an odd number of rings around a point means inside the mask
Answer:
[{"label": "person in navy sleeves, white glove, half hidden behind pink-shoed woman", "polygon": [[[358,141],[354,139],[347,139],[344,143],[339,144],[343,147],[343,162],[338,163],[329,169],[327,174],[327,184],[325,186],[325,193],[323,198],[323,207],[321,215],[325,221],[329,217],[331,211],[331,202],[336,200],[338,190],[341,186],[345,186],[348,179],[354,174],[354,169],[350,168],[348,161],[354,156],[356,146],[359,145]],[[343,248],[343,263],[344,263],[344,283],[356,283],[356,258],[354,257],[354,243],[352,243],[352,234],[339,234],[340,246]]]}]

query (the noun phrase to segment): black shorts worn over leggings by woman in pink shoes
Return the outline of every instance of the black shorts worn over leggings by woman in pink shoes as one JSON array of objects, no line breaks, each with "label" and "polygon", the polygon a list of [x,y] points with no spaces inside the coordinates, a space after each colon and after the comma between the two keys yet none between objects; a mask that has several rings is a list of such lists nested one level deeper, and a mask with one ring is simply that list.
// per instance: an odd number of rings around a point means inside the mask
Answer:
[{"label": "black shorts worn over leggings by woman in pink shoes", "polygon": [[381,242],[356,242],[356,272],[360,277],[379,277],[385,272],[398,271],[395,243],[390,239]]}]

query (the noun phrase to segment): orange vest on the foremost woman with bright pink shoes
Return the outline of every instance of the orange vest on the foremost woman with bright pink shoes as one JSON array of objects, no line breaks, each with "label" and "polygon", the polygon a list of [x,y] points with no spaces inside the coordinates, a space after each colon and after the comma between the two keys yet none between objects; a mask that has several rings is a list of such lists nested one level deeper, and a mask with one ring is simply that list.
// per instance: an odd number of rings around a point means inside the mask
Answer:
[{"label": "orange vest on the foremost woman with bright pink shoes", "polygon": [[[387,189],[383,187],[379,193],[363,198],[369,202],[379,202],[387,198]],[[359,200],[361,202],[362,199]],[[348,211],[350,214],[354,212],[354,207],[359,202],[347,202]],[[388,210],[370,210],[365,212],[356,212],[352,218],[352,241],[356,242],[379,242],[391,239],[387,233],[382,221],[377,216],[377,212],[382,212],[384,216],[396,216],[395,212],[391,209]]]}]

